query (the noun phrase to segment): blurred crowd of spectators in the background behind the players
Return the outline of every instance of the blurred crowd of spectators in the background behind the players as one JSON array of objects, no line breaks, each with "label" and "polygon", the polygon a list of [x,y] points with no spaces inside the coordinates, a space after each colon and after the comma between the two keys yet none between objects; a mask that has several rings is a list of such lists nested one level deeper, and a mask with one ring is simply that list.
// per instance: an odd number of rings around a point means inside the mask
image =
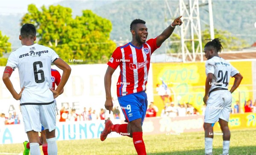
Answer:
[{"label": "blurred crowd of spectators in the background behind the players", "polygon": [[[114,100],[113,100],[114,101]],[[243,112],[254,112],[256,113],[256,100],[252,103],[251,100],[247,100],[244,102],[244,107],[240,106],[239,101],[236,101],[236,104],[233,106],[231,113],[243,113]],[[202,115],[204,115],[206,106],[202,107]],[[67,105],[63,105],[57,113],[57,119],[60,122],[66,121],[95,121],[95,120],[106,120],[106,119],[123,119],[124,116],[121,113],[121,108],[114,104],[113,111],[111,114],[106,109],[100,109],[99,112],[96,112],[96,109],[92,109],[91,107],[87,110],[84,107],[83,111],[77,112],[76,109],[70,109]],[[148,109],[146,111],[146,117],[156,117],[158,108],[151,102],[148,105]],[[60,114],[60,115],[58,115]],[[194,108],[190,103],[186,104],[178,104],[175,106],[173,102],[166,103],[163,110],[160,113],[161,117],[177,117],[177,116],[190,116],[190,115],[200,115],[198,109]],[[5,113],[1,113],[0,115],[0,125],[1,124],[19,124],[20,123],[19,112],[17,113],[15,110],[10,111],[9,115],[6,116]]]}]

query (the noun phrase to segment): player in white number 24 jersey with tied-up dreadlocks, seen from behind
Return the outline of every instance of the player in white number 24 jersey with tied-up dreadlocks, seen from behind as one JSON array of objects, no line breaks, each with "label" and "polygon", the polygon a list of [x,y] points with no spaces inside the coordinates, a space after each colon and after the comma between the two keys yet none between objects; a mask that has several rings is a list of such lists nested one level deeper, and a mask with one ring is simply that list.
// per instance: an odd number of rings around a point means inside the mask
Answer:
[{"label": "player in white number 24 jersey with tied-up dreadlocks, seen from behind", "polygon": [[[223,155],[228,155],[230,146],[230,130],[228,121],[231,111],[232,95],[242,80],[242,75],[229,62],[219,57],[222,45],[218,38],[209,41],[204,46],[207,58],[204,103],[205,154],[212,155],[213,125],[219,122],[223,133]],[[228,91],[230,76],[235,78],[234,84]]]}]

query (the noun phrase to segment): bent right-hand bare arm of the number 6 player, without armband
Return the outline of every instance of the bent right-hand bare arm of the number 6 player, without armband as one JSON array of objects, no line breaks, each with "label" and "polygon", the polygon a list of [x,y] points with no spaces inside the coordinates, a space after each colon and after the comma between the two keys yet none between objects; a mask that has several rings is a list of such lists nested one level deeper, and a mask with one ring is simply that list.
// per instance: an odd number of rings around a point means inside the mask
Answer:
[{"label": "bent right-hand bare arm of the number 6 player, without armband", "polygon": [[57,89],[56,90],[52,90],[52,93],[53,93],[53,97],[54,98],[57,98],[58,95],[61,94],[61,90],[64,88],[65,84],[67,83],[67,80],[70,76],[70,73],[71,73],[71,68],[70,66],[64,61],[62,60],[61,58],[58,58],[57,60],[55,60],[53,62],[59,69],[61,69],[63,71],[62,73],[62,76],[61,76],[61,82],[60,84],[58,85]]}]

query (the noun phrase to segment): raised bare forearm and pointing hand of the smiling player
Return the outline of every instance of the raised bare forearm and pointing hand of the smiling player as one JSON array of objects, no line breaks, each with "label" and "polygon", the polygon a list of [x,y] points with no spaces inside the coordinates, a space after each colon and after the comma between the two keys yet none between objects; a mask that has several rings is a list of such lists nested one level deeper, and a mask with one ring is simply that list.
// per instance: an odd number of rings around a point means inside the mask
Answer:
[{"label": "raised bare forearm and pointing hand of the smiling player", "polygon": [[180,26],[182,24],[182,21],[180,20],[182,16],[177,17],[175,20],[173,20],[172,24],[170,26],[168,26],[158,37],[157,37],[157,46],[159,47],[160,45],[162,45],[162,43],[168,39],[172,32],[175,29],[175,26]]}]

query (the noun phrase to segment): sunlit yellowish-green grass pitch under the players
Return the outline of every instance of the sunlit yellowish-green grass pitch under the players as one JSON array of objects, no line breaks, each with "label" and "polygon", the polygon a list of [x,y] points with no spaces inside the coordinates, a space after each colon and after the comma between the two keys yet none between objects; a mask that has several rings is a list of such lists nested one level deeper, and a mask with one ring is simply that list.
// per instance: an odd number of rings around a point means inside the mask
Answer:
[{"label": "sunlit yellowish-green grass pitch under the players", "polygon": [[[204,132],[145,135],[148,155],[204,155]],[[57,141],[58,155],[137,155],[132,138]],[[22,144],[0,145],[0,155],[19,155]],[[213,155],[222,153],[222,136],[215,135]],[[42,153],[43,155],[43,153]],[[231,131],[230,155],[256,155],[256,129]]]}]

